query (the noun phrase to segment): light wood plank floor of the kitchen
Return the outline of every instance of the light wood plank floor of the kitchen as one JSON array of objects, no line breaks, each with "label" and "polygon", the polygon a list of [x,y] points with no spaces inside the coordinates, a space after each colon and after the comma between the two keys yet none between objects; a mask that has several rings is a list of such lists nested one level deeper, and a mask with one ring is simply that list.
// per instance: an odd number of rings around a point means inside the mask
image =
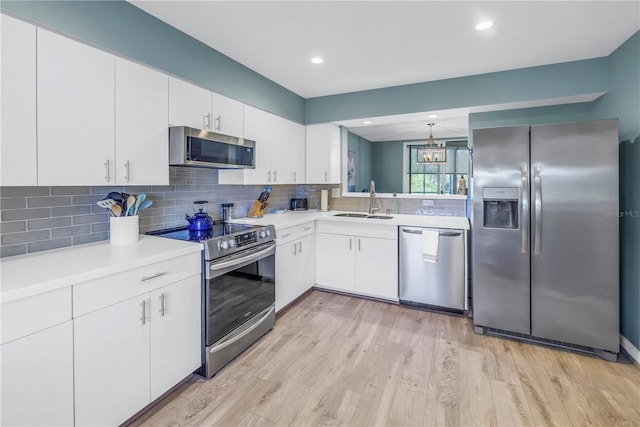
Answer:
[{"label": "light wood plank floor of the kitchen", "polygon": [[476,335],[467,318],[320,291],[144,426],[638,426],[640,369]]}]

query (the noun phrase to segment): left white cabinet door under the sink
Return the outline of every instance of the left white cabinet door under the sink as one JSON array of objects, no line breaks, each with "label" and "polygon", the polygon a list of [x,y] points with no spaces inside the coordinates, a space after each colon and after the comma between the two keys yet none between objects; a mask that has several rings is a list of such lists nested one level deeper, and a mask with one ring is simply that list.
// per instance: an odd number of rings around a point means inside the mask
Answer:
[{"label": "left white cabinet door under the sink", "polygon": [[355,291],[355,238],[338,234],[316,236],[316,284]]}]

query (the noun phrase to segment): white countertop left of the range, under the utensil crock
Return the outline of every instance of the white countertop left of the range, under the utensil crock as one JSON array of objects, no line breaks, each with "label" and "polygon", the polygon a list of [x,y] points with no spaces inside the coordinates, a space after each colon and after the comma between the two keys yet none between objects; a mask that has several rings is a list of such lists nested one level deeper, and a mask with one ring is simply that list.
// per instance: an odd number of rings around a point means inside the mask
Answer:
[{"label": "white countertop left of the range, under the utensil crock", "polygon": [[200,252],[201,243],[141,235],[131,245],[109,241],[0,260],[0,302],[10,302],[100,277]]}]

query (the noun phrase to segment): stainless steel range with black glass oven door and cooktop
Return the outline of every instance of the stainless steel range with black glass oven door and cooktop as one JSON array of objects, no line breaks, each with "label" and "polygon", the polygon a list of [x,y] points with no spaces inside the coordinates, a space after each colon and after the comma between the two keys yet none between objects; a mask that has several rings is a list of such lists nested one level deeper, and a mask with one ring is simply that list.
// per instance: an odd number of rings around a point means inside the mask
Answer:
[{"label": "stainless steel range with black glass oven door and cooktop", "polygon": [[200,373],[210,378],[275,324],[275,229],[220,222],[148,234],[204,244]]}]

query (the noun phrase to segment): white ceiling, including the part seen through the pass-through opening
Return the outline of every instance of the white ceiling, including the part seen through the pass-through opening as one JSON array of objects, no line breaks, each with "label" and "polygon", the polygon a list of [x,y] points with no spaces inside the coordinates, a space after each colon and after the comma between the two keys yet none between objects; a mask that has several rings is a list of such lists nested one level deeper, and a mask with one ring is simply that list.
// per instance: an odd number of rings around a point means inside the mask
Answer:
[{"label": "white ceiling, including the part seen through the pass-through opening", "polygon": [[[130,2],[304,98],[607,56],[640,29],[637,0]],[[460,113],[440,128],[466,134]]]}]

